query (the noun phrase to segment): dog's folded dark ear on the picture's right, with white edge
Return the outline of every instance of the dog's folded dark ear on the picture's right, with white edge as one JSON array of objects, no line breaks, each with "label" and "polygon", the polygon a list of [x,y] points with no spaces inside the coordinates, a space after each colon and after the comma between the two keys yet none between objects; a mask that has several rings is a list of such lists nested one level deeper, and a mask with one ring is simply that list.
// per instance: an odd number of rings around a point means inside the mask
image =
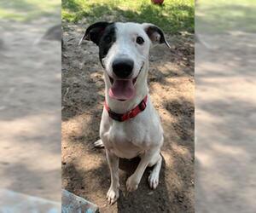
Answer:
[{"label": "dog's folded dark ear on the picture's right, with white edge", "polygon": [[164,32],[158,27],[152,24],[143,23],[143,29],[148,34],[151,42],[154,43],[166,43],[168,48],[171,48],[169,43],[166,42]]}]

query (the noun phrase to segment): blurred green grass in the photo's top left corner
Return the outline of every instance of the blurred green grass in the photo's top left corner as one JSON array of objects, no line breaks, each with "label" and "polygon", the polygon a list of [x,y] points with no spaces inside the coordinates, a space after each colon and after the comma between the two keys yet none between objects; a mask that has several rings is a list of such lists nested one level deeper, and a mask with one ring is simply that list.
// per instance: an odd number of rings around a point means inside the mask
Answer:
[{"label": "blurred green grass in the photo's top left corner", "polygon": [[61,0],[1,0],[0,19],[27,22],[42,16],[57,16]]}]

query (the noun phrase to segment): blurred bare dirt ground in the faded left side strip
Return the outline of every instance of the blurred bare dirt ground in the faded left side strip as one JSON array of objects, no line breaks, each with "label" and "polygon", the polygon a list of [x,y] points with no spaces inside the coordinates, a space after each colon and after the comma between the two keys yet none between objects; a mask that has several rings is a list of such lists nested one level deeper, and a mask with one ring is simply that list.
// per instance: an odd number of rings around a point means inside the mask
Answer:
[{"label": "blurred bare dirt ground in the faded left side strip", "polygon": [[58,21],[1,20],[0,189],[60,202],[61,43],[36,43]]}]

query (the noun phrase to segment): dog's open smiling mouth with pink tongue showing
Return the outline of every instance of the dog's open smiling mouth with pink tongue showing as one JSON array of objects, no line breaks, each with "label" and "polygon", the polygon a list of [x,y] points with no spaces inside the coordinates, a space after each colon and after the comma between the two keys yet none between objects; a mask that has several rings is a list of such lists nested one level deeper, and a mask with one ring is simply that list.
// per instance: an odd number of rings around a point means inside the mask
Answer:
[{"label": "dog's open smiling mouth with pink tongue showing", "polygon": [[108,95],[118,101],[131,100],[136,95],[135,84],[137,83],[137,78],[143,70],[143,66],[141,67],[136,78],[115,79],[108,75],[111,83],[111,87],[108,90]]}]

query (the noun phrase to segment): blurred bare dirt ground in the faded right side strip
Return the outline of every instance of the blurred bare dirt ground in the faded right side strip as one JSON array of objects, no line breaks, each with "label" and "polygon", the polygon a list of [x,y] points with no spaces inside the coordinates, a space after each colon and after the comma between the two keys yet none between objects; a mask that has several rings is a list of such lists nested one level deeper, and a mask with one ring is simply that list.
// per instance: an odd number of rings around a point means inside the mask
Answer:
[{"label": "blurred bare dirt ground in the faded right side strip", "polygon": [[[195,46],[195,209],[256,212],[256,34],[201,34]],[[221,57],[220,57],[221,53]]]}]

